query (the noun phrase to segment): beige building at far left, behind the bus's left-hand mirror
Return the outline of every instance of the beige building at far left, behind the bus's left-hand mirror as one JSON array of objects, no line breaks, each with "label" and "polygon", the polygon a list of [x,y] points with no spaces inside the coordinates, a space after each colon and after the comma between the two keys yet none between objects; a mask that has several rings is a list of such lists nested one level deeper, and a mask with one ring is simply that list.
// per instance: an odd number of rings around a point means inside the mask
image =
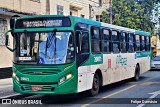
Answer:
[{"label": "beige building at far left, behind the bus's left-hand mirror", "polygon": [[[5,47],[5,32],[10,29],[13,15],[33,15],[46,13],[46,0],[0,0],[0,72],[12,66],[12,52]],[[10,36],[12,47],[12,36]],[[1,76],[1,73],[0,73]]]}]

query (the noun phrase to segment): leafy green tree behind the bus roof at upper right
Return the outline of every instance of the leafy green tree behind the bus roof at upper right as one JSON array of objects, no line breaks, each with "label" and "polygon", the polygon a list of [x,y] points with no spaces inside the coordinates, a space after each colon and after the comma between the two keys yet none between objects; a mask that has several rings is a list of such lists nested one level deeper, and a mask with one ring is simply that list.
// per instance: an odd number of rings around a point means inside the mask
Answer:
[{"label": "leafy green tree behind the bus roof at upper right", "polygon": [[[152,9],[156,0],[112,0],[114,25],[154,32],[151,22]],[[109,9],[102,13],[103,22],[109,23]]]}]

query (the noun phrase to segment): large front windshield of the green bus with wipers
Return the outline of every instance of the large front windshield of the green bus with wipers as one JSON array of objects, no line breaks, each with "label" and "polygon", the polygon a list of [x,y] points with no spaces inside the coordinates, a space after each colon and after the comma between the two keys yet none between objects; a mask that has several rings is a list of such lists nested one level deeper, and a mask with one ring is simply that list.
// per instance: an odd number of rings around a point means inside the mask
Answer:
[{"label": "large front windshield of the green bus with wipers", "polygon": [[71,32],[16,33],[15,63],[65,64],[74,59]]}]

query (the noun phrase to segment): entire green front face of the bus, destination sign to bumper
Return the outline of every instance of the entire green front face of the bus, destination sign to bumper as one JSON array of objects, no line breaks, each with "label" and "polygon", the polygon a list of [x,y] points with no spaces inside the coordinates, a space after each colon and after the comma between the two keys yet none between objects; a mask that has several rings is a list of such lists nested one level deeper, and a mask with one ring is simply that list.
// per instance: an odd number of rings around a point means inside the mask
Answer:
[{"label": "entire green front face of the bus, destination sign to bumper", "polygon": [[13,35],[16,92],[66,94],[77,91],[73,29],[68,17],[16,21]]}]

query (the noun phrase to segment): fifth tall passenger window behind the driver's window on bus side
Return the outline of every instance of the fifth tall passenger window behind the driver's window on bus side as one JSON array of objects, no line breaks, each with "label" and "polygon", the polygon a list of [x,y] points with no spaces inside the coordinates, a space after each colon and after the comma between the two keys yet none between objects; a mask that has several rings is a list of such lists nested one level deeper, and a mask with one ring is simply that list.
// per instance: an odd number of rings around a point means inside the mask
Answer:
[{"label": "fifth tall passenger window behind the driver's window on bus side", "polygon": [[128,34],[128,52],[134,52],[134,35]]}]

